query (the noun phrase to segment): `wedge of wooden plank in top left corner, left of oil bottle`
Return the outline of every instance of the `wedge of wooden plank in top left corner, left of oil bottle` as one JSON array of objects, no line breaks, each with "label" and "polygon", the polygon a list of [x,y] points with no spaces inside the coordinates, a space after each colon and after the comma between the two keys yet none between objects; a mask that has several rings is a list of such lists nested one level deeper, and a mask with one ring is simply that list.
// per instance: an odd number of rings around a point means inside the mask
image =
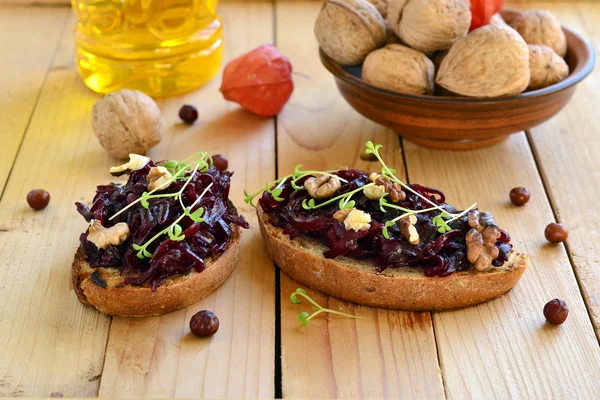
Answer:
[{"label": "wedge of wooden plank in top left corner, left of oil bottle", "polygon": [[69,12],[24,7],[0,9],[0,195]]}]

